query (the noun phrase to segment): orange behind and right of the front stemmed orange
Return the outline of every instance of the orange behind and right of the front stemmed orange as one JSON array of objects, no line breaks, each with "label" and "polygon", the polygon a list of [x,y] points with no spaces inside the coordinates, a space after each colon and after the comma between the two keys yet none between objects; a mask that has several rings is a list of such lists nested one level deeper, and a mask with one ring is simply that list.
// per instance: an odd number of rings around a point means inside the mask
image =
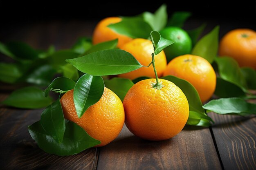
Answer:
[{"label": "orange behind and right of the front stemmed orange", "polygon": [[181,55],[168,63],[164,76],[174,75],[190,82],[202,102],[207,101],[216,88],[216,73],[211,64],[196,55]]}]

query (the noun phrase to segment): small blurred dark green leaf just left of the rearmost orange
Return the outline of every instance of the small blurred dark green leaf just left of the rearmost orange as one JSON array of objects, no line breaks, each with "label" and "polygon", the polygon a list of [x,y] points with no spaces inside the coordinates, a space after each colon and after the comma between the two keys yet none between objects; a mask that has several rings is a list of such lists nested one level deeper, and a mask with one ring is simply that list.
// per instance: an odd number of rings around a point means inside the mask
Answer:
[{"label": "small blurred dark green leaf just left of the rearmost orange", "polygon": [[85,37],[79,38],[76,43],[72,46],[72,50],[76,53],[83,54],[88,51],[92,46],[92,42]]}]

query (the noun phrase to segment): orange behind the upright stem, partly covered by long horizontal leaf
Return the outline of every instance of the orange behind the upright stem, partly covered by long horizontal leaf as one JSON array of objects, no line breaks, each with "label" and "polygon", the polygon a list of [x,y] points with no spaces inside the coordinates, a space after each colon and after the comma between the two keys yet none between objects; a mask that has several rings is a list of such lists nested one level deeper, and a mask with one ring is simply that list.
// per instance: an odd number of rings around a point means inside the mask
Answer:
[{"label": "orange behind the upright stem, partly covered by long horizontal leaf", "polygon": [[[131,53],[139,61],[141,65],[148,66],[148,64],[152,61],[151,54],[153,53],[154,49],[152,42],[150,40],[137,38],[124,44],[124,46],[121,46],[120,49]],[[164,69],[166,68],[166,65],[167,61],[164,51],[155,55],[155,68],[157,69],[158,77],[162,76]],[[135,71],[118,75],[118,77],[124,77],[128,79],[136,79],[141,76],[155,78],[153,66],[151,65],[147,68],[141,67]]]}]

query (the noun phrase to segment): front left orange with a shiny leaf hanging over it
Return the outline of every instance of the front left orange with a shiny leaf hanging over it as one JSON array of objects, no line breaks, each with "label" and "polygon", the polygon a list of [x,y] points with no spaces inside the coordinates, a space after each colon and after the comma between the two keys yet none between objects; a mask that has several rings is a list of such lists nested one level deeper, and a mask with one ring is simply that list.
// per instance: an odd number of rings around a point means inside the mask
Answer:
[{"label": "front left orange with a shiny leaf hanging over it", "polygon": [[105,87],[99,102],[90,106],[79,119],[74,106],[73,91],[68,91],[61,97],[65,119],[78,124],[91,137],[101,141],[96,147],[113,141],[124,126],[124,107],[119,97]]}]

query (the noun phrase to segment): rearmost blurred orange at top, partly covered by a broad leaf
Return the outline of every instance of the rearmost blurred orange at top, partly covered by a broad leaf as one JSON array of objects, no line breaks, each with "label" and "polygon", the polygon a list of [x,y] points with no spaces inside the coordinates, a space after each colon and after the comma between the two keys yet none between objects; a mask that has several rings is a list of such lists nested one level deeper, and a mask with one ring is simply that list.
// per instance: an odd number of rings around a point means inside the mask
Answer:
[{"label": "rearmost blurred orange at top, partly covered by a broad leaf", "polygon": [[121,18],[119,17],[108,17],[101,20],[97,24],[96,28],[94,29],[94,32],[92,35],[92,44],[98,44],[100,42],[115,40],[118,38],[117,46],[120,47],[125,43],[131,41],[132,38],[126,35],[121,35],[119,33],[116,33],[115,31],[112,31],[112,29],[108,28],[109,24],[115,24],[120,21],[121,21]]}]

